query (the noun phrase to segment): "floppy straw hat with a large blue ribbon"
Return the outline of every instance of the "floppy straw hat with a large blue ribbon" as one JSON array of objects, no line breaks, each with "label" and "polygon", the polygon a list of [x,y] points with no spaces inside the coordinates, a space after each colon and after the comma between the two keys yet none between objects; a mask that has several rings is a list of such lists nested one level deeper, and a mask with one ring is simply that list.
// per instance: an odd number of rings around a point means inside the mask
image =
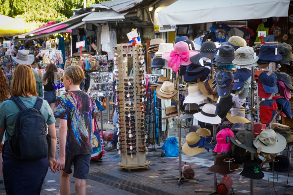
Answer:
[{"label": "floppy straw hat with a large blue ribbon", "polygon": [[205,150],[205,147],[211,141],[210,131],[205,128],[200,128],[196,132],[190,132],[185,138],[186,142],[182,146],[183,152],[188,156],[194,156]]}]

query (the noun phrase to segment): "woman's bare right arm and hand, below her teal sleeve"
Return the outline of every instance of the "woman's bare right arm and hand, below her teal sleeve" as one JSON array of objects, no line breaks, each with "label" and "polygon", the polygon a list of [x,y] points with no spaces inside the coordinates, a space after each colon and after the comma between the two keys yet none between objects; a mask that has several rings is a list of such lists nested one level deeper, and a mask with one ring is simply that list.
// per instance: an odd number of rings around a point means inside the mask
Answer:
[{"label": "woman's bare right arm and hand, below her teal sleeve", "polygon": [[55,169],[53,169],[54,165],[56,164],[55,152],[56,152],[56,145],[57,145],[55,123],[48,125],[48,134],[51,136],[51,148],[49,152],[49,167],[52,170],[52,172],[55,174],[56,171]]}]

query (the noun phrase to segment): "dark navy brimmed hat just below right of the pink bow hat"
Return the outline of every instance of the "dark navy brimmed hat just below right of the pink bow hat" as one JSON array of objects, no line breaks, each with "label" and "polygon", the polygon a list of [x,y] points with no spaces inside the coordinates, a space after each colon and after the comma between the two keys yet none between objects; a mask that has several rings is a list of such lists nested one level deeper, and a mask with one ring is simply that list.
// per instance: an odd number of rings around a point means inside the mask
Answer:
[{"label": "dark navy brimmed hat just below right of the pink bow hat", "polygon": [[209,75],[209,68],[198,65],[189,64],[184,74],[184,80],[186,82],[195,82],[197,78],[206,78]]}]

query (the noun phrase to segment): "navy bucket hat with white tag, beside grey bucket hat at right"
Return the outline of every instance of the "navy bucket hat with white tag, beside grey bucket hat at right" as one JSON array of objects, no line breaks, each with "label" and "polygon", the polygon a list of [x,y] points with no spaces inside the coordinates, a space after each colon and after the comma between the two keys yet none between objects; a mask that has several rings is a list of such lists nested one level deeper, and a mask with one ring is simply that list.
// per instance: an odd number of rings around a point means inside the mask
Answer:
[{"label": "navy bucket hat with white tag, beside grey bucket hat at right", "polygon": [[283,59],[279,54],[278,46],[276,44],[264,44],[260,47],[258,58],[266,61],[280,61]]}]

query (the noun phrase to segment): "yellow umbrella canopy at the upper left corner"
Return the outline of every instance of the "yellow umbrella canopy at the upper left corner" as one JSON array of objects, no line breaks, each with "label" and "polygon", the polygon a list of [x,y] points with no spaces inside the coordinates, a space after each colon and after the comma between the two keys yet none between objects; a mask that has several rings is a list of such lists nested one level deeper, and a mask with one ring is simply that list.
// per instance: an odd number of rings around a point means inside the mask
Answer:
[{"label": "yellow umbrella canopy at the upper left corner", "polygon": [[0,36],[15,36],[38,28],[36,22],[26,22],[23,16],[16,16],[14,20],[0,26]]}]

